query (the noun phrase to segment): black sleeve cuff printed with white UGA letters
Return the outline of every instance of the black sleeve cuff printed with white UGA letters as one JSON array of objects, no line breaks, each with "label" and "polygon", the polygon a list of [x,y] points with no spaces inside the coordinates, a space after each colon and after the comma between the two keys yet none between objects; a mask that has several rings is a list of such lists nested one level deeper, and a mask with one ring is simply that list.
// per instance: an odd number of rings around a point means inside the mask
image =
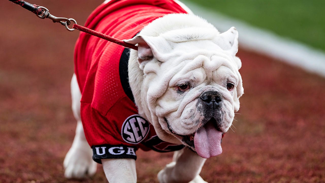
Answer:
[{"label": "black sleeve cuff printed with white UGA letters", "polygon": [[136,146],[97,145],[92,146],[93,160],[101,164],[101,159],[130,158],[136,160]]}]

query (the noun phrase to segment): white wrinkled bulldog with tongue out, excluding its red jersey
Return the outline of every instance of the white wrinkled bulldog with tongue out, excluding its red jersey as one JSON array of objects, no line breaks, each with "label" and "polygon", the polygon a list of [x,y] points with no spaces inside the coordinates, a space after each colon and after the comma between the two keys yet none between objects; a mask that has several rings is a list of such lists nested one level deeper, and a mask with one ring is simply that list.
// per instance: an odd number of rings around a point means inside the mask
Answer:
[{"label": "white wrinkled bulldog with tongue out, excluding its red jersey", "polygon": [[[222,135],[243,94],[236,28],[219,33],[193,14],[169,14],[124,41],[138,46],[131,50],[128,73],[139,114],[160,139],[188,147],[174,153],[173,162],[158,173],[159,182],[205,182],[201,168],[207,158],[221,154]],[[64,160],[65,176],[81,178],[96,172],[96,162],[81,123],[75,75],[71,91],[78,124]],[[110,183],[136,182],[135,160],[103,159],[102,164]]]}]

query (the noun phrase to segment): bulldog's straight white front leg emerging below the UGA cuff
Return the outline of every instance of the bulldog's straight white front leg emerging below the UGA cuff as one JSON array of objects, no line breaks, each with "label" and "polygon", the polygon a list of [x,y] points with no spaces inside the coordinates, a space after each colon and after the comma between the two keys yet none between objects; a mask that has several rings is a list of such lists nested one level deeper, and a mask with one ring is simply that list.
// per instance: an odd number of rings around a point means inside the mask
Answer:
[{"label": "bulldog's straight white front leg emerging below the UGA cuff", "polygon": [[136,183],[134,159],[102,159],[102,164],[110,183]]}]

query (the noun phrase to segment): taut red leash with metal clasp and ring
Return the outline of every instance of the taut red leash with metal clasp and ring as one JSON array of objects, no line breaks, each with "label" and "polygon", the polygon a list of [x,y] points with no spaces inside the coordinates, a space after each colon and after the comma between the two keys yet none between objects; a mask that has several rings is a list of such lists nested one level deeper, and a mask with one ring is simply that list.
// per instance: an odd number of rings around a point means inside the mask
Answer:
[{"label": "taut red leash with metal clasp and ring", "polygon": [[[77,21],[75,21],[74,19],[68,19],[68,18],[61,18],[61,17],[53,16],[53,15],[51,15],[49,13],[49,11],[48,11],[48,9],[46,7],[41,7],[41,6],[38,6],[38,5],[32,5],[32,4],[30,4],[30,3],[26,2],[26,1],[22,1],[22,0],[9,0],[9,1],[11,1],[11,2],[13,2],[13,3],[15,3],[15,4],[29,10],[29,11],[31,11],[38,18],[41,18],[41,19],[48,18],[48,19],[51,19],[53,22],[61,23],[62,25],[65,26],[65,28],[68,31],[74,31],[75,29],[77,29],[79,31],[85,32],[85,33],[93,35],[93,36],[97,36],[99,38],[108,40],[108,41],[110,41],[112,43],[121,45],[123,47],[138,50],[138,47],[133,45],[133,44],[126,43],[126,42],[124,42],[122,40],[116,39],[114,37],[110,37],[110,36],[105,35],[103,33],[88,29],[87,27],[84,27],[84,26],[81,26],[81,25],[78,25]],[[71,21],[74,22],[74,24],[72,25],[72,29],[68,27],[68,25],[71,24]]]}]

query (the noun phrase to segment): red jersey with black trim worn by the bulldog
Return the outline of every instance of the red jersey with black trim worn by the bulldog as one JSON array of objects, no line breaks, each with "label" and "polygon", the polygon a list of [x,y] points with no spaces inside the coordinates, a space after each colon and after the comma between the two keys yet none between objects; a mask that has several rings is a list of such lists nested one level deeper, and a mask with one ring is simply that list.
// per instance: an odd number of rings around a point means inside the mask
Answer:
[{"label": "red jersey with black trim worn by the bulldog", "polygon": [[[170,13],[186,13],[173,0],[111,0],[97,7],[85,27],[117,39],[130,39],[151,21]],[[136,159],[136,150],[179,150],[183,145],[158,138],[140,115],[128,83],[129,49],[81,33],[74,64],[81,98],[85,136],[93,159]]]}]

